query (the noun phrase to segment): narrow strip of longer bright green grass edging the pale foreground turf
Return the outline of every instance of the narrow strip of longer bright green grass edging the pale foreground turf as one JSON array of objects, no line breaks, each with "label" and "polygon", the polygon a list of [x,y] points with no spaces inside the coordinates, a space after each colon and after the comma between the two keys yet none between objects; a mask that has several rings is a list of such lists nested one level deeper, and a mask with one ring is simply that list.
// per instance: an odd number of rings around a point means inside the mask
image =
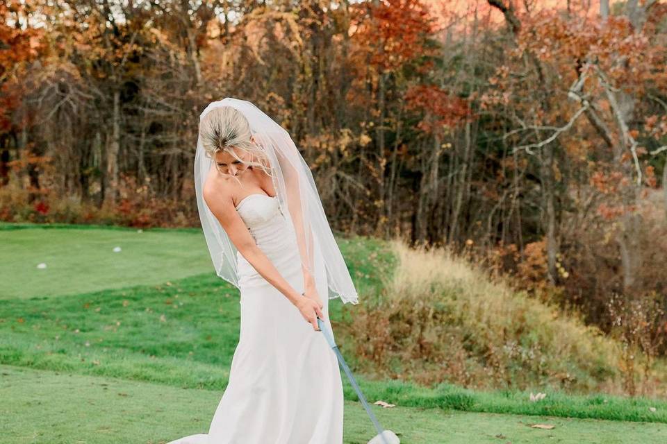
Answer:
[{"label": "narrow strip of longer bright green grass edging the pale foreground turf", "polygon": [[[86,355],[82,360],[68,354],[11,349],[3,342],[0,343],[2,364],[69,371],[81,375],[121,377],[211,391],[224,389],[229,377],[229,366],[185,362],[178,358],[151,359],[116,352],[110,355]],[[101,364],[94,364],[95,361]],[[370,401],[384,400],[402,407],[667,423],[667,402],[661,400],[550,392],[544,400],[530,402],[527,392],[482,392],[445,384],[438,388],[425,388],[408,382],[370,381],[361,375],[356,375],[356,379]],[[343,391],[346,400],[358,400],[345,378]]]}]

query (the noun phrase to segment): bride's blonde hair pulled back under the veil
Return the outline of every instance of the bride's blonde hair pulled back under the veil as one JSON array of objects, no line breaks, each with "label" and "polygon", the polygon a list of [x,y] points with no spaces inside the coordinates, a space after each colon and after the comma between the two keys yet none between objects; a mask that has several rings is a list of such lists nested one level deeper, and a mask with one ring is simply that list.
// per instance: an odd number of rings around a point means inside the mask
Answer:
[{"label": "bride's blonde hair pulled back under the veil", "polygon": [[[232,149],[236,147],[251,155],[251,160],[242,160],[243,163],[248,166],[259,167],[268,176],[272,176],[266,153],[260,146],[250,140],[252,136],[250,124],[243,113],[235,108],[220,106],[206,113],[199,122],[199,136],[206,157],[215,160],[215,153],[227,151],[236,160],[240,160]],[[254,162],[253,157],[258,159],[259,162]],[[217,162],[215,162],[215,169],[220,171]],[[222,171],[220,172],[222,173]],[[238,178],[234,178],[238,181]]]}]

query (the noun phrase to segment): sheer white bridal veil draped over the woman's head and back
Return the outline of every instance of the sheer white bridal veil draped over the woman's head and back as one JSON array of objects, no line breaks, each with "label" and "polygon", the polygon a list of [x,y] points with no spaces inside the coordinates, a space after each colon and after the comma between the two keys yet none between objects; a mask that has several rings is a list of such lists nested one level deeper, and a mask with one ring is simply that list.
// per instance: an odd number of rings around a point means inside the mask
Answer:
[{"label": "sheer white bridal veil draped over the woman's head and back", "polygon": [[[327,296],[329,298],[340,297],[345,303],[359,303],[343,255],[338,249],[327,216],[324,214],[311,169],[308,168],[308,164],[299,153],[289,133],[253,103],[232,97],[209,103],[206,109],[199,114],[199,121],[201,122],[208,112],[221,106],[231,106],[244,115],[250,125],[254,142],[267,155],[278,205],[297,234],[302,266],[314,277],[314,256],[319,250],[327,269],[329,287]],[[208,252],[211,253],[217,275],[238,287],[236,246],[209,210],[203,196],[206,176],[209,171],[216,172],[215,168],[211,169],[213,162],[214,160],[205,154],[201,135],[198,134],[197,153],[195,154],[195,191],[201,228],[204,229]],[[315,245],[319,248],[315,248]]]}]

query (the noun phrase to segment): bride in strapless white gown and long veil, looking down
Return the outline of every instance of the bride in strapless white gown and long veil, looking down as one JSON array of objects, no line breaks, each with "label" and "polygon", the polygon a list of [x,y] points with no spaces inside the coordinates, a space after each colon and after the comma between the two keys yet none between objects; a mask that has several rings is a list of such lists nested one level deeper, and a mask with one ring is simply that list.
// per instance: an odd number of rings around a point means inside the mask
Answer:
[{"label": "bride in strapless white gown and long veil, looking down", "polygon": [[227,97],[199,117],[195,190],[215,271],[240,290],[240,334],[208,433],[168,444],[341,444],[329,299],[358,303],[308,165],[278,123]]}]

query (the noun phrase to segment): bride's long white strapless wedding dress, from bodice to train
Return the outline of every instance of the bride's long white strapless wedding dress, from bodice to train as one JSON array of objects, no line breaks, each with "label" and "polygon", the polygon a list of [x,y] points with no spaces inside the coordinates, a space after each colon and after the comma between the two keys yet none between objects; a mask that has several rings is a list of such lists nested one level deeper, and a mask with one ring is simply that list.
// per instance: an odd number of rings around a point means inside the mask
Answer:
[{"label": "bride's long white strapless wedding dress, from bodice to train", "polygon": [[[293,225],[278,199],[250,194],[236,206],[256,244],[301,293]],[[315,244],[315,282],[331,328],[327,275]],[[229,384],[208,433],[168,444],[342,444],[343,384],[336,354],[322,332],[240,254],[240,336]]]}]

